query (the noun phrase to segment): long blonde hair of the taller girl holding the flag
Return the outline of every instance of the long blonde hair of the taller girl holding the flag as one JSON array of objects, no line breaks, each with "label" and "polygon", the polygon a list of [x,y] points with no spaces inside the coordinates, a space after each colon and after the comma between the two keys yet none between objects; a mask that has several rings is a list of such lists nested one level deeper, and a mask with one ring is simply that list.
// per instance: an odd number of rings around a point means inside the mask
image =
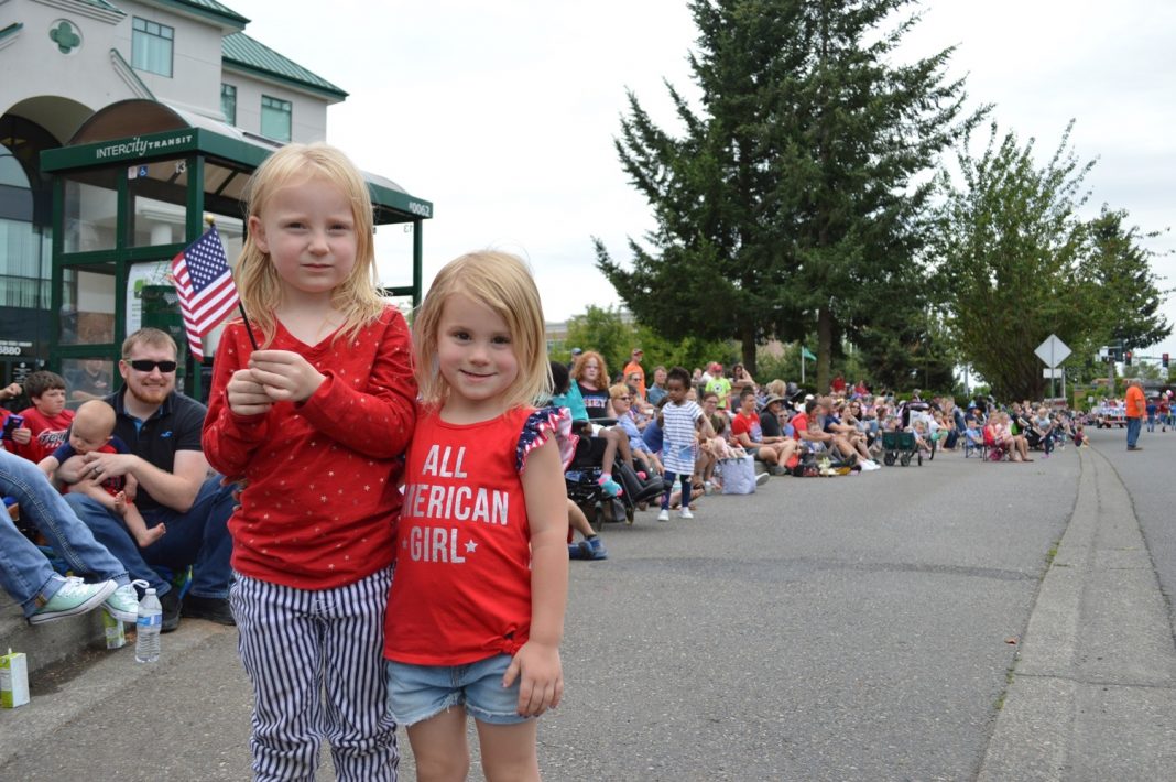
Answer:
[{"label": "long blonde hair of the taller girl holding the flag", "polygon": [[[385,303],[375,285],[375,230],[372,195],[363,175],[347,155],[330,145],[288,143],[253,173],[246,188],[248,218],[261,218],[274,193],[283,187],[322,180],[338,187],[352,205],[355,220],[355,266],[347,280],[330,292],[330,303],[343,315],[339,336],[353,337],[383,312]],[[261,347],[276,332],[274,310],[281,303],[282,287],[268,253],[262,253],[250,233],[245,238],[241,258],[233,273],[241,303],[250,323],[261,329]]]}]

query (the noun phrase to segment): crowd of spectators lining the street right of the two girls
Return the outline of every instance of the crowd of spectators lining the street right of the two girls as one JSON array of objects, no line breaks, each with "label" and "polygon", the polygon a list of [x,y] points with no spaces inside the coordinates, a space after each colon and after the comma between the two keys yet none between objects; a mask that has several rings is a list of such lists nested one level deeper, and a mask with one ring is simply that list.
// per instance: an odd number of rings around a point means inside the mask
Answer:
[{"label": "crowd of spectators lining the street right of the two girls", "polygon": [[[610,448],[613,439],[622,440],[626,463],[642,474],[666,474],[663,417],[664,406],[670,403],[667,377],[674,370],[653,367],[647,387],[644,354],[636,348],[609,385],[599,353],[573,353],[569,373],[587,407],[581,432],[609,439]],[[888,432],[910,433],[907,442],[926,459],[937,453],[976,452],[983,459],[1013,463],[1048,459],[1057,446],[1082,445],[1084,440],[1083,416],[1028,401],[998,406],[978,396],[957,405],[951,396],[924,399],[917,388],[896,396],[871,388],[862,379],[850,383],[840,375],[828,393],[816,395],[779,379],[756,382],[743,365],[727,372],[717,361],[686,376],[686,401],[697,403],[702,415],[695,426],[693,475],[683,490],[674,492],[671,507],[683,493],[721,492],[724,466],[747,456],[759,463],[756,483],[761,486],[770,476],[877,470]],[[1170,415],[1170,409],[1164,415]],[[1167,426],[1164,415],[1157,405],[1161,426]],[[602,481],[612,481],[610,466],[606,464]]]}]

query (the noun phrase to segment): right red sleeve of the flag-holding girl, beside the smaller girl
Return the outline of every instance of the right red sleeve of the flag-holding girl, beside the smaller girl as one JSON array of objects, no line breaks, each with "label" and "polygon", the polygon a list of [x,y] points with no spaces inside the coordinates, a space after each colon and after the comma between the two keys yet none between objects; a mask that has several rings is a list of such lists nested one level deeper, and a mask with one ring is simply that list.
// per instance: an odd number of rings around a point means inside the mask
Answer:
[{"label": "right red sleeve of the flag-holding girl, beside the smaller girl", "polygon": [[399,456],[408,447],[416,423],[416,380],[413,377],[413,346],[408,323],[396,309],[388,307],[379,327],[361,333],[362,340],[374,339],[375,354],[366,383],[348,382],[339,373],[327,370],[319,386],[299,412],[316,429],[352,450],[375,459]]}]

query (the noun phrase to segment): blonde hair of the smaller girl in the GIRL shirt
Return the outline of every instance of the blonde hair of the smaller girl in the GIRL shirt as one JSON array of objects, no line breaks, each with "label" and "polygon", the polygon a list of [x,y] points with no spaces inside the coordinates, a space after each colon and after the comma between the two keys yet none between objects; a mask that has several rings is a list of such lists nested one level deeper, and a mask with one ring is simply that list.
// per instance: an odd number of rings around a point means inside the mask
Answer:
[{"label": "blonde hair of the smaller girl in the GIRL shirt", "polygon": [[507,408],[535,405],[552,396],[552,365],[547,359],[543,306],[530,270],[509,253],[479,250],[445,265],[413,319],[413,354],[416,382],[425,405],[442,405],[449,383],[437,367],[437,330],[450,296],[466,296],[486,305],[506,321],[519,375],[502,393]]}]

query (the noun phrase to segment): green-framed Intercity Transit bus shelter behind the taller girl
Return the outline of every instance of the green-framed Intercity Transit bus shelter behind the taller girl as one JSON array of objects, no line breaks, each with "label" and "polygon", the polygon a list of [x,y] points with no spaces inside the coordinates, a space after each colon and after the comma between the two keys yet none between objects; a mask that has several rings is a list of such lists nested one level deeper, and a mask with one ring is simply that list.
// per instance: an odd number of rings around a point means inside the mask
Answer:
[{"label": "green-framed Intercity Transit bus shelter behind the taller girl", "polygon": [[[49,366],[75,389],[118,386],[122,340],[142,326],[172,333],[180,347],[178,388],[203,399],[219,329],[205,340],[203,366],[186,348],[171,263],[215,221],[229,263],[245,238],[245,187],[281,145],[223,122],[151,100],[126,100],[93,114],[69,142],[41,153],[53,175],[52,308],[58,313]],[[412,281],[387,296],[421,299],[422,223],[429,201],[365,174],[376,226],[409,223]],[[407,276],[407,275],[406,275]],[[202,377],[203,375],[203,377]],[[76,395],[74,396],[76,399]]]}]

